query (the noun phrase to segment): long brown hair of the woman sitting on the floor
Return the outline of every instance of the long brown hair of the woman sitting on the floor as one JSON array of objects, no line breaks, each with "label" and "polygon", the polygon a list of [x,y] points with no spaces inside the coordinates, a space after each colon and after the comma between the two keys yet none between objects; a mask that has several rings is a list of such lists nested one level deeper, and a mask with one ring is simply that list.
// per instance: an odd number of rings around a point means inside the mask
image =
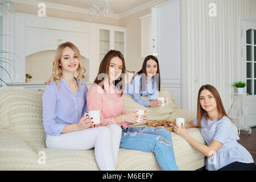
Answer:
[{"label": "long brown hair of the woman sitting on the floor", "polygon": [[[221,97],[220,97],[220,94],[218,93],[218,90],[212,85],[208,85],[208,84],[203,85],[199,89],[198,96],[197,96],[197,126],[199,126],[200,128],[201,128],[202,119],[203,118],[205,118],[205,119],[208,118],[207,111],[205,111],[202,108],[201,104],[200,104],[200,94],[205,89],[209,90],[209,92],[213,94],[213,97],[216,101],[217,111],[218,111],[218,118],[217,119],[220,120],[224,116],[228,117],[228,114],[226,114],[226,111],[225,111],[224,106],[222,104]],[[229,119],[230,119],[230,121],[232,121],[231,118],[229,118]]]}]

